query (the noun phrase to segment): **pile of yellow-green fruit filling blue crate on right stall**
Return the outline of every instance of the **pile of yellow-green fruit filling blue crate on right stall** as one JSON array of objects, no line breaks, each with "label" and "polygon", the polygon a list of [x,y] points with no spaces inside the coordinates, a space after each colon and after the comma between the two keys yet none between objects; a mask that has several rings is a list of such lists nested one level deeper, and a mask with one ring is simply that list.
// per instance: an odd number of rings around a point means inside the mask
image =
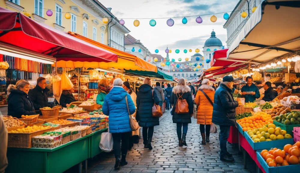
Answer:
[{"label": "pile of yellow-green fruit filling blue crate on right stall", "polygon": [[274,124],[265,124],[261,128],[252,129],[247,131],[248,135],[254,142],[274,141],[279,139],[292,138],[286,130],[281,130]]}]

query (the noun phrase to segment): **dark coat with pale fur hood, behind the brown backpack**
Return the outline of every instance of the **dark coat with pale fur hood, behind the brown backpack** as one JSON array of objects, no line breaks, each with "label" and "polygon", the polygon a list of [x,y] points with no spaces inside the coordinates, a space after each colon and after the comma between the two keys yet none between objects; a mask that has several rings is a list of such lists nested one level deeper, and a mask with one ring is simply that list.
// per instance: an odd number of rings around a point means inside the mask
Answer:
[{"label": "dark coat with pale fur hood, behind the brown backpack", "polygon": [[[185,99],[187,101],[188,110],[189,110],[187,114],[177,114],[175,112],[175,108],[177,106],[176,103],[179,95],[180,96],[182,95],[182,99]],[[191,123],[190,114],[193,114],[194,104],[193,104],[192,94],[190,92],[190,87],[183,86],[183,85],[177,85],[176,87],[174,87],[172,91],[170,103],[174,104],[172,108],[173,123]]]}]

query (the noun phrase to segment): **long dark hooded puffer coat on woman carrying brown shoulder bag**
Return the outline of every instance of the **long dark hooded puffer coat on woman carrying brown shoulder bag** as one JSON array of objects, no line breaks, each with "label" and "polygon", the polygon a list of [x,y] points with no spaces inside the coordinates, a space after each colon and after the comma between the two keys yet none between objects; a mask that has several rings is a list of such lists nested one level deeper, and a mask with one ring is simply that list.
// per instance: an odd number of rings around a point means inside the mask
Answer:
[{"label": "long dark hooded puffer coat on woman carrying brown shoulder bag", "polygon": [[148,84],[143,84],[139,87],[137,92],[137,109],[138,120],[141,127],[152,127],[159,125],[158,117],[152,117],[152,107],[159,104],[158,96],[153,91],[152,87]]}]

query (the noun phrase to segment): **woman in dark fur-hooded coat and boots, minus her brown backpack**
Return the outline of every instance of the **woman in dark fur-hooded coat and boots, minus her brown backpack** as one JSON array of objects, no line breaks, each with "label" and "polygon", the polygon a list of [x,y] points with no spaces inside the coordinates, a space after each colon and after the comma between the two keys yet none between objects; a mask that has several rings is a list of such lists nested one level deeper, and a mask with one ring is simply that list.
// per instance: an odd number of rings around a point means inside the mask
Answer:
[{"label": "woman in dark fur-hooded coat and boots, minus her brown backpack", "polygon": [[[176,103],[180,96],[182,96],[182,99],[185,99],[187,101],[188,110],[189,110],[187,114],[177,114],[175,112],[177,106]],[[187,135],[187,125],[188,123],[191,123],[190,118],[193,116],[193,99],[192,99],[192,93],[190,87],[186,85],[184,79],[180,79],[177,86],[173,88],[170,103],[174,104],[171,114],[173,115],[172,118],[173,123],[176,123],[177,125],[177,136],[179,140],[179,146],[183,146],[183,145],[187,146],[185,137]],[[181,133],[181,127],[183,127],[182,133]]]}]

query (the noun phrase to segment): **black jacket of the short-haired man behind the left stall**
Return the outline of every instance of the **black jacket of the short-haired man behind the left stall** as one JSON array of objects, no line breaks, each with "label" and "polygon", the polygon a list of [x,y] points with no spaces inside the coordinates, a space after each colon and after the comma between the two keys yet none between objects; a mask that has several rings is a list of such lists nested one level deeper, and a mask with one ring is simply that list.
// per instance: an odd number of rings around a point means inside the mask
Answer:
[{"label": "black jacket of the short-haired man behind the left stall", "polygon": [[48,91],[50,91],[48,88],[45,88],[43,90],[38,85],[36,85],[34,89],[29,90],[28,96],[32,101],[33,106],[35,107],[35,110],[40,110],[40,108],[48,106]]}]

